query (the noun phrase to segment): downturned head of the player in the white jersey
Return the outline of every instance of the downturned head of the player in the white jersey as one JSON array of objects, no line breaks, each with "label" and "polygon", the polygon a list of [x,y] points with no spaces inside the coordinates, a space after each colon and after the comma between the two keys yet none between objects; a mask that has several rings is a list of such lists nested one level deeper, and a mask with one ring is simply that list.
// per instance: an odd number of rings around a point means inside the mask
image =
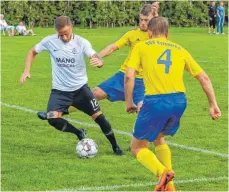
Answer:
[{"label": "downturned head of the player in the white jersey", "polygon": [[72,38],[72,22],[67,16],[59,16],[54,21],[55,29],[59,38],[64,42],[69,42]]}]

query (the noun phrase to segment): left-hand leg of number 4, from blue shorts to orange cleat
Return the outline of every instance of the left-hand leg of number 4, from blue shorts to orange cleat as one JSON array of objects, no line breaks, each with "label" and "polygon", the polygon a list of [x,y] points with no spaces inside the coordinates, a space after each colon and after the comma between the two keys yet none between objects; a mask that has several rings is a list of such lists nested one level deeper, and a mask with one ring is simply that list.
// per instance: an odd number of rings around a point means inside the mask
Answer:
[{"label": "left-hand leg of number 4, from blue shorts to orange cleat", "polygon": [[[157,156],[146,148],[147,146],[144,143],[146,143],[146,141],[153,142],[159,137],[172,114],[172,102],[167,100],[164,101],[164,97],[167,96],[159,95],[145,97],[143,106],[135,123],[133,132],[134,139],[131,145],[131,151],[140,163],[159,178],[159,184],[155,188],[157,191],[165,189],[168,182],[173,178],[174,171],[163,165]],[[160,136],[161,139],[158,140],[158,142],[164,144],[165,141],[162,140],[163,136]],[[152,165],[154,166],[152,167]],[[167,177],[168,180],[166,180]]]}]

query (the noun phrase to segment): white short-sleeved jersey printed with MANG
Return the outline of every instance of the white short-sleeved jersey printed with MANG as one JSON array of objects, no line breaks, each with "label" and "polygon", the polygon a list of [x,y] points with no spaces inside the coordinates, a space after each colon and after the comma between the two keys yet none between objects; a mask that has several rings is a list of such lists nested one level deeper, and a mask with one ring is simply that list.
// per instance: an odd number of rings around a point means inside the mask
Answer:
[{"label": "white short-sleeved jersey printed with MANG", "polygon": [[96,53],[88,40],[72,34],[72,39],[65,43],[55,34],[41,40],[35,50],[50,53],[53,89],[75,91],[87,83],[84,56],[91,57]]}]

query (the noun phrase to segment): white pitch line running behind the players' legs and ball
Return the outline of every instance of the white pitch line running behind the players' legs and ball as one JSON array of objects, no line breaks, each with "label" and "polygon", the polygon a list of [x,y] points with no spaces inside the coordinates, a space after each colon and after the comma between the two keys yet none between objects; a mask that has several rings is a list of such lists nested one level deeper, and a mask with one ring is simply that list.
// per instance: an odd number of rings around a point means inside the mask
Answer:
[{"label": "white pitch line running behind the players' legs and ball", "polygon": [[[30,112],[30,113],[37,113],[37,111],[32,110],[32,109],[28,109],[28,108],[25,108],[25,107],[20,107],[20,106],[17,106],[17,105],[11,105],[11,104],[7,104],[7,103],[3,103],[3,102],[0,102],[0,103],[1,103],[1,105],[6,106],[6,107],[19,109],[19,110]],[[99,128],[99,126],[96,125],[96,124],[91,124],[91,123],[82,122],[82,121],[69,119],[69,118],[66,118],[66,120],[68,120],[69,122],[77,123],[79,125]],[[117,129],[113,129],[113,130],[118,134],[127,135],[129,137],[132,137],[131,133],[128,133],[128,132],[125,132],[125,131],[120,131],[120,130],[117,130]],[[196,148],[196,147],[192,147],[192,146],[181,145],[181,144],[173,143],[173,142],[170,142],[170,141],[167,141],[167,143],[169,145],[171,145],[171,146],[179,147],[179,148],[186,149],[186,150],[197,151],[197,152],[201,152],[201,153],[207,153],[207,154],[217,155],[217,156],[224,157],[224,158],[229,158],[229,155],[225,154],[225,153],[218,153],[218,152],[209,151],[209,150],[206,150],[206,149],[200,149],[200,148]]]}]

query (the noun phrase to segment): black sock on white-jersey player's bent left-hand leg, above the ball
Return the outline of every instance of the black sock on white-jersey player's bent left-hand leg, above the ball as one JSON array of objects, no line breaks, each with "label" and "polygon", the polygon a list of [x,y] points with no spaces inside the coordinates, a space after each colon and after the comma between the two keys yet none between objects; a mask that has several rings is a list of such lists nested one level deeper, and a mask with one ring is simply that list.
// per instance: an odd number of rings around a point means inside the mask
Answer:
[{"label": "black sock on white-jersey player's bent left-hand leg, above the ball", "polygon": [[[82,134],[82,131],[71,125],[67,120],[62,118],[52,118],[48,119],[50,125],[55,127],[59,131],[69,132],[77,135],[79,138]],[[79,138],[80,139],[80,138]]]}]

